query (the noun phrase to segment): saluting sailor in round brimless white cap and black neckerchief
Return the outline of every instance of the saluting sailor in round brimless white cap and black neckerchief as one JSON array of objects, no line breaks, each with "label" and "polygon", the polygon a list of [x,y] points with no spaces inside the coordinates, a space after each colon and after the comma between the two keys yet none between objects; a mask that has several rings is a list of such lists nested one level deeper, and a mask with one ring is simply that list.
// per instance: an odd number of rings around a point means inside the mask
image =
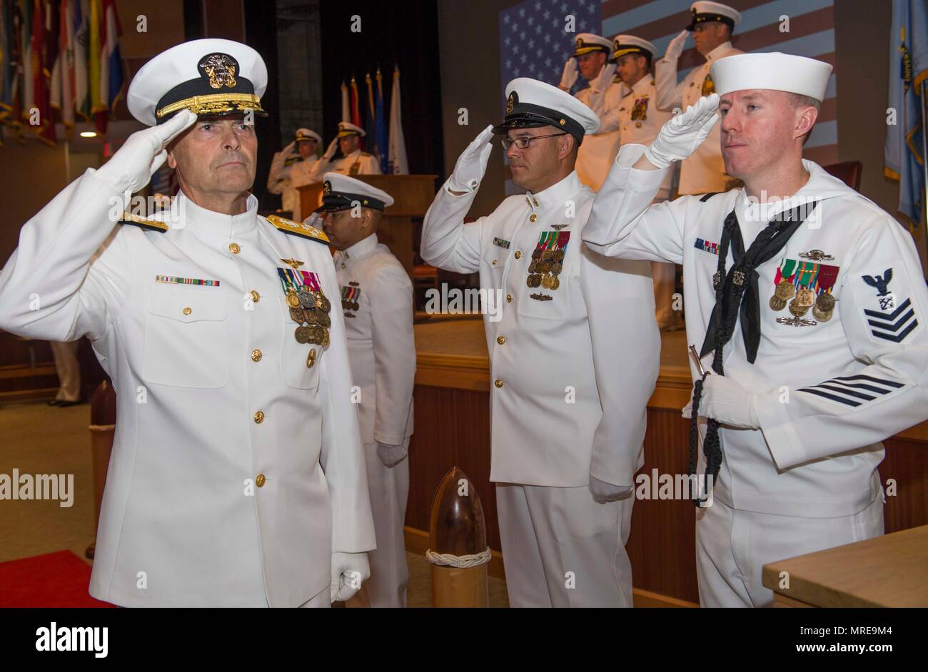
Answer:
[{"label": "saluting sailor in round brimless white cap and black neckerchief", "polygon": [[[704,606],[766,605],[764,564],[883,534],[881,441],[928,417],[912,239],[802,158],[830,74],[779,53],[715,63],[716,94],[621,149],[584,229],[604,254],[682,263],[687,336],[713,352],[712,374],[694,358],[684,410],[697,409],[700,483],[715,481],[697,509]],[[649,205],[667,167],[709,142],[716,108],[744,188]]]}]

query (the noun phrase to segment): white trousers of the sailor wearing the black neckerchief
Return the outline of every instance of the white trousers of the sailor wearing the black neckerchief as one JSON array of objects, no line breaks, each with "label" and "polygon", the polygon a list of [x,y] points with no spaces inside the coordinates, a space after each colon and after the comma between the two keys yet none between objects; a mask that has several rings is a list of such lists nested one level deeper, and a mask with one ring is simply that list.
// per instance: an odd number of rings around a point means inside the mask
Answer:
[{"label": "white trousers of the sailor wearing the black neckerchief", "polygon": [[718,500],[696,512],[696,577],[704,607],[762,607],[773,591],[765,564],[883,534],[883,497],[839,518],[796,518],[732,509]]}]

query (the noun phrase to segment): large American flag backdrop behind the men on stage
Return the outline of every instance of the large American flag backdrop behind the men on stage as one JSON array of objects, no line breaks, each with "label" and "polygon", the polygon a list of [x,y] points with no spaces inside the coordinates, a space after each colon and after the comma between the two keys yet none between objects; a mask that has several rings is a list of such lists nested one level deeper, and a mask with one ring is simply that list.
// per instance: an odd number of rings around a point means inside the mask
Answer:
[{"label": "large American flag backdrop behind the men on stage", "polygon": [[[727,0],[725,4],[741,12],[732,39],[741,51],[781,51],[835,65],[833,0]],[[569,14],[575,17],[572,33],[565,32],[564,18]],[[637,35],[650,40],[661,57],[689,22],[687,0],[525,0],[499,12],[501,81],[505,86],[515,77],[534,77],[557,85],[578,32],[610,39],[619,33]],[[680,57],[677,81],[704,62],[692,44],[690,39]],[[832,72],[804,150],[806,158],[820,165],[838,160],[836,92],[837,73]]]}]

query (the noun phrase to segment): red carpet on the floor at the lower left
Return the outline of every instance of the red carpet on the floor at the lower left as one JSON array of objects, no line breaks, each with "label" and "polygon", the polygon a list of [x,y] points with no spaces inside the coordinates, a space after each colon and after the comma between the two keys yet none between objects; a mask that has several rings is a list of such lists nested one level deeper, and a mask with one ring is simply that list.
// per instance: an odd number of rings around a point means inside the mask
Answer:
[{"label": "red carpet on the floor at the lower left", "polygon": [[90,597],[90,565],[71,551],[0,563],[0,607],[111,607]]}]

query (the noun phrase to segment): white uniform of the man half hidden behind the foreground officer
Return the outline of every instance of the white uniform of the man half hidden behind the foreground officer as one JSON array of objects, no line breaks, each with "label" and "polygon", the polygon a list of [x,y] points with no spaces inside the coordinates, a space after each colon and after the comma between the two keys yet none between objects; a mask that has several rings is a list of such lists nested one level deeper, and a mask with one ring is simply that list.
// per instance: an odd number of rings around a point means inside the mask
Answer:
[{"label": "white uniform of the man half hidden behind the foreground officer", "polygon": [[405,607],[406,545],[403,521],[409,494],[409,460],[385,466],[377,444],[409,448],[413,432],[416,342],[412,283],[403,265],[377,234],[335,254],[335,273],[347,297],[342,310],[348,360],[360,387],[358,413],[367,462],[367,488],[377,532],[365,582],[372,607]]}]

